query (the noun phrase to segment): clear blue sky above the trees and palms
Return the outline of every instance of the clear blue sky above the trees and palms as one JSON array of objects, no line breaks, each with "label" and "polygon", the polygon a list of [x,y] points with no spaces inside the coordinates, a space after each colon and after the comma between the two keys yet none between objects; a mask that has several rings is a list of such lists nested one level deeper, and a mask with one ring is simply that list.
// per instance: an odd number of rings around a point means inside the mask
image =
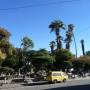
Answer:
[{"label": "clear blue sky above the trees and palms", "polygon": [[[28,5],[28,8],[10,9]],[[48,25],[58,19],[66,25],[72,23],[79,56],[82,55],[81,39],[85,41],[85,50],[90,50],[89,9],[90,0],[0,0],[0,26],[11,32],[10,41],[15,47],[20,47],[21,39],[29,36],[35,44],[34,49],[50,50],[49,43],[55,40],[55,35],[50,33]],[[75,54],[74,42],[71,51]]]}]

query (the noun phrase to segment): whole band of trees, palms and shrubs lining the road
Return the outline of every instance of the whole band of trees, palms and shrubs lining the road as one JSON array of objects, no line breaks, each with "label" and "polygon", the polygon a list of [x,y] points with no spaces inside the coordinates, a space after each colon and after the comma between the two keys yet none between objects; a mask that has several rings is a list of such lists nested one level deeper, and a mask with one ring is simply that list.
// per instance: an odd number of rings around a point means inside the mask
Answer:
[{"label": "whole band of trees, palms and shrubs lining the road", "polygon": [[[62,70],[68,73],[72,68],[72,73],[80,76],[90,73],[90,51],[85,53],[84,40],[81,40],[83,56],[77,57],[74,27],[73,24],[65,25],[60,20],[51,22],[49,29],[56,35],[50,41],[51,51],[45,47],[33,50],[34,42],[27,36],[21,39],[20,48],[17,48],[10,42],[11,33],[0,27],[0,75],[43,76],[49,71]],[[65,38],[61,30],[65,32]],[[70,51],[73,40],[75,55]]]}]

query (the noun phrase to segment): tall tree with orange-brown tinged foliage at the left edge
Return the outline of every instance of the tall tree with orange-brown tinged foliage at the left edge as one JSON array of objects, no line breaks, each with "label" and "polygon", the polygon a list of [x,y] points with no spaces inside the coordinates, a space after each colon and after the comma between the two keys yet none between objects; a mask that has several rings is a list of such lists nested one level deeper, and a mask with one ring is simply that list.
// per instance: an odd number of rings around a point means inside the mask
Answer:
[{"label": "tall tree with orange-brown tinged foliage at the left edge", "polygon": [[10,32],[0,27],[0,51],[6,55],[6,57],[14,54],[15,51],[14,46],[9,41],[10,36]]}]

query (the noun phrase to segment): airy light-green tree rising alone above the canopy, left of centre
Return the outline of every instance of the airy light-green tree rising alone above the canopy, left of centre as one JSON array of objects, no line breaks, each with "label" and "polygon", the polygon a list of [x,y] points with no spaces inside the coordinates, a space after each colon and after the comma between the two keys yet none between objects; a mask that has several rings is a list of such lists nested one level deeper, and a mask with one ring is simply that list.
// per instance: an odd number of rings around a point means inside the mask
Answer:
[{"label": "airy light-green tree rising alone above the canopy, left of centre", "polygon": [[33,41],[27,36],[23,37],[22,43],[21,43],[21,56],[22,56],[22,62],[23,62],[22,71],[24,71],[25,75],[28,71],[31,70],[31,64],[29,65],[29,63],[31,63],[31,60],[30,60],[30,57],[28,56],[28,52],[33,47],[34,47]]}]

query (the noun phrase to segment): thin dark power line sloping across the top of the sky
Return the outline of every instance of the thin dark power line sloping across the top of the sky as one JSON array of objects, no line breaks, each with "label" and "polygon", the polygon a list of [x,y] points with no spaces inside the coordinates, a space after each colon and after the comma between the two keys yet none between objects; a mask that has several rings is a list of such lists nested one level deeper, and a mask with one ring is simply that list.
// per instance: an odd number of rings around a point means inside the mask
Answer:
[{"label": "thin dark power line sloping across the top of the sky", "polygon": [[41,6],[48,6],[48,5],[54,5],[54,4],[70,3],[75,1],[80,1],[80,0],[58,1],[58,2],[43,3],[43,4],[40,3],[40,4],[33,4],[33,5],[19,6],[19,7],[2,8],[0,9],[0,11],[31,8],[31,7],[41,7]]}]

